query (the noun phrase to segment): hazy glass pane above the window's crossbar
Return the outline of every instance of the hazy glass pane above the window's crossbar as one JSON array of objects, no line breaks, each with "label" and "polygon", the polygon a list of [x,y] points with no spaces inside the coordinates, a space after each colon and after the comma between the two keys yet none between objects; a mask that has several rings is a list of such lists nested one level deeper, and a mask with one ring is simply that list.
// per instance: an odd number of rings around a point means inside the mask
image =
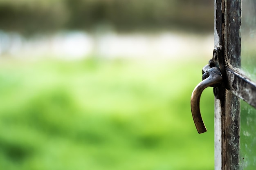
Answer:
[{"label": "hazy glass pane above the window's crossbar", "polygon": [[256,80],[256,0],[242,0],[241,68]]}]

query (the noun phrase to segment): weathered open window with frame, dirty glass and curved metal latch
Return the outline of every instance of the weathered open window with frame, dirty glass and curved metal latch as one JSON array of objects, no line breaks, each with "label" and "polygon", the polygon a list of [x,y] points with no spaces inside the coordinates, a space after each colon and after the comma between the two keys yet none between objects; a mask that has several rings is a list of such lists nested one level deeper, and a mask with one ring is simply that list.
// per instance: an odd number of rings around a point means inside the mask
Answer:
[{"label": "weathered open window with frame, dirty glass and curved metal latch", "polygon": [[[203,73],[208,75],[203,76],[202,82],[214,85],[215,170],[253,170],[256,167],[256,2],[215,0],[214,16],[215,52],[207,67],[217,67],[222,78],[217,85],[207,82],[209,77],[215,79],[215,72],[205,71],[204,67]],[[198,84],[191,97],[199,133],[206,131],[198,102],[204,88]],[[197,89],[200,93],[194,95]],[[193,106],[193,100],[198,104]]]}]

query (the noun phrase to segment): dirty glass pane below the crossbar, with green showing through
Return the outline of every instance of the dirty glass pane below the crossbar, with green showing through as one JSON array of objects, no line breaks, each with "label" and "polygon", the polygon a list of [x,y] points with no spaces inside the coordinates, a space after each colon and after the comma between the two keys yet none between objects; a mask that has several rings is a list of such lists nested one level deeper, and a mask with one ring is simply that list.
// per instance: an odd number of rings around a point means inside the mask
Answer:
[{"label": "dirty glass pane below the crossbar, with green showing through", "polygon": [[241,100],[240,169],[256,167],[256,109]]}]

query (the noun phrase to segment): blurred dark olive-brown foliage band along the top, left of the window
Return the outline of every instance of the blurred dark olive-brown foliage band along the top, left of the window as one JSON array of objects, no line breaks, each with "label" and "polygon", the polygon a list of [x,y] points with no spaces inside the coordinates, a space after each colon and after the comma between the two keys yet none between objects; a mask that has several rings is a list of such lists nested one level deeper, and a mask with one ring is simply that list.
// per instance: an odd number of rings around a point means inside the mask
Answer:
[{"label": "blurred dark olive-brown foliage band along the top, left of the window", "polygon": [[213,9],[213,1],[205,0],[0,0],[0,29],[213,31]]}]

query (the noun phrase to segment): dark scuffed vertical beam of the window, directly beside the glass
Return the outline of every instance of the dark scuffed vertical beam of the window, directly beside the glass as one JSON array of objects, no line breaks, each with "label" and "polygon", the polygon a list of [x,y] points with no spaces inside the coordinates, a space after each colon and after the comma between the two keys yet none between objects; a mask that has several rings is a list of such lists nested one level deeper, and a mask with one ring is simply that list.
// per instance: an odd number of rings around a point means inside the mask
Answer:
[{"label": "dark scuffed vertical beam of the window, directly beside the glass", "polygon": [[[222,50],[226,68],[240,68],[241,0],[222,0]],[[226,84],[230,81],[225,75]],[[240,99],[226,90],[222,103],[222,170],[239,169]]]}]

